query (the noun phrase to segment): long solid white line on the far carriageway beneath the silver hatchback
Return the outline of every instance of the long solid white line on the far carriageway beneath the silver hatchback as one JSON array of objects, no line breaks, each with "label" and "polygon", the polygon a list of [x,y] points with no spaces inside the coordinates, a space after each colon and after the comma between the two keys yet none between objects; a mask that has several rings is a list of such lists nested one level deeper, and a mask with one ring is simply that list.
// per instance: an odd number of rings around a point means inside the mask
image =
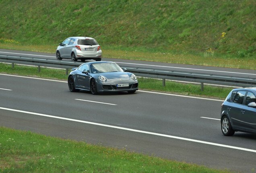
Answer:
[{"label": "long solid white line on the far carriageway beneath the silver hatchback", "polygon": [[[0,52],[0,53],[21,54],[21,53],[12,53],[12,52]],[[45,55],[36,55],[36,54],[23,54],[23,55],[45,56]],[[54,57],[55,58],[55,56],[46,56],[46,57]],[[136,63],[128,63],[128,62],[117,62],[117,63],[120,63],[120,64],[132,64],[132,65],[142,65],[142,66],[157,66],[157,67],[165,67],[165,68],[178,68],[178,69],[186,69],[186,70],[200,70],[200,71],[210,71],[210,72],[225,72],[225,73],[233,73],[233,74],[256,75],[256,74],[251,74],[251,73],[227,72],[227,71],[218,71],[218,70],[204,70],[204,69],[197,69],[197,68],[184,68],[184,67],[173,67],[173,66],[159,66],[159,65],[150,65],[150,64],[136,64]]]}]

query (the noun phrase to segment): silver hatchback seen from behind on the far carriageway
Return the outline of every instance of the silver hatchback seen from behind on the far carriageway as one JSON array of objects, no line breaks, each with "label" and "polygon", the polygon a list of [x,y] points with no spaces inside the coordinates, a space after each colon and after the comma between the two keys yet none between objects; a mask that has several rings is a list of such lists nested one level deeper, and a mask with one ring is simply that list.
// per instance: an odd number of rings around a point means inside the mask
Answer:
[{"label": "silver hatchback seen from behind on the far carriageway", "polygon": [[91,37],[69,37],[59,44],[56,50],[57,60],[63,58],[72,59],[72,61],[101,60],[101,46]]}]

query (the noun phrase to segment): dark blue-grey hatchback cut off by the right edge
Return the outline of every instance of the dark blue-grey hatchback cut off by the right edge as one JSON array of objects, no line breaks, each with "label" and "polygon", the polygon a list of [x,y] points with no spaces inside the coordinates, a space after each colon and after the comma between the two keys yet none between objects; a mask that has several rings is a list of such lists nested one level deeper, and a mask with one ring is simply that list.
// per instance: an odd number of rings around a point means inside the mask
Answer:
[{"label": "dark blue-grey hatchback cut off by the right edge", "polygon": [[256,88],[233,89],[221,105],[221,131],[256,133]]}]

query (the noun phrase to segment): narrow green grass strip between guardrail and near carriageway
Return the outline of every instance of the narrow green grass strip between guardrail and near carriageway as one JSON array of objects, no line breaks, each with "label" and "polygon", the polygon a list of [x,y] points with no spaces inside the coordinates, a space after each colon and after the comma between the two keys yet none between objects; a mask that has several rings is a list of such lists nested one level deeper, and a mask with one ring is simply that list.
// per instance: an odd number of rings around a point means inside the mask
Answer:
[{"label": "narrow green grass strip between guardrail and near carriageway", "polygon": [[[15,65],[12,68],[11,64],[0,63],[0,73],[18,74],[23,76],[38,76],[41,78],[51,78],[59,80],[67,80],[65,70],[41,68],[38,72],[37,67]],[[162,80],[150,78],[138,78],[139,89],[150,91],[161,91],[168,93],[178,93],[181,95],[211,97],[216,99],[225,99],[232,88],[226,87],[212,87],[204,85],[204,91],[201,91],[199,84],[184,84],[179,82],[172,82],[166,80],[165,87],[163,87]]]}]

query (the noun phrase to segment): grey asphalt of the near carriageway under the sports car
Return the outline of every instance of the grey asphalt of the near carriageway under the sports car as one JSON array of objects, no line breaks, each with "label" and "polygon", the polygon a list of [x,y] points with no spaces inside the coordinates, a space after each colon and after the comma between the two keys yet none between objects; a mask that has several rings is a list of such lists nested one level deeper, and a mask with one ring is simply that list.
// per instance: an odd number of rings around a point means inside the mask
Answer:
[{"label": "grey asphalt of the near carriageway under the sports car", "polygon": [[256,168],[256,135],[223,136],[219,100],[144,91],[70,93],[65,81],[5,74],[0,81],[0,126],[215,169]]}]

